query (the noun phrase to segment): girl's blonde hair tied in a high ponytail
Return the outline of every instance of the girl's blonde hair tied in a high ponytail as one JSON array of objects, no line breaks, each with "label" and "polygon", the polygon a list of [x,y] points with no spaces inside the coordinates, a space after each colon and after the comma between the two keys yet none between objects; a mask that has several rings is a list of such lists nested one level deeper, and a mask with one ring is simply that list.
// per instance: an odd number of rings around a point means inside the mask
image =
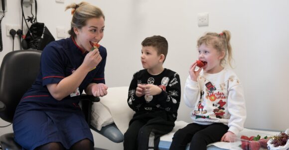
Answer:
[{"label": "girl's blonde hair tied in a high ponytail", "polygon": [[227,58],[227,62],[232,67],[231,60],[233,58],[230,40],[231,40],[231,33],[228,30],[224,30],[221,33],[208,32],[198,40],[197,47],[200,47],[202,44],[205,44],[206,46],[208,45],[212,46],[214,49],[218,50],[218,52],[224,51],[225,56],[221,59],[221,63],[226,63]]}]

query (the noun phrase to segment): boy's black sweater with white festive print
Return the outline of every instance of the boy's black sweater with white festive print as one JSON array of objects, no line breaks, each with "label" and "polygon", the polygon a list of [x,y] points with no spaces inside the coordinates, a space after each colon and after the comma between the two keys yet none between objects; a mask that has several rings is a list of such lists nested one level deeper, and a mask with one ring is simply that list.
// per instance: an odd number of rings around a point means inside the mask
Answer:
[{"label": "boy's black sweater with white festive print", "polygon": [[[138,84],[154,84],[162,89],[159,95],[136,96]],[[158,75],[151,75],[146,69],[136,72],[129,88],[128,104],[137,113],[166,111],[176,120],[177,109],[181,98],[179,75],[169,69],[164,69]]]}]

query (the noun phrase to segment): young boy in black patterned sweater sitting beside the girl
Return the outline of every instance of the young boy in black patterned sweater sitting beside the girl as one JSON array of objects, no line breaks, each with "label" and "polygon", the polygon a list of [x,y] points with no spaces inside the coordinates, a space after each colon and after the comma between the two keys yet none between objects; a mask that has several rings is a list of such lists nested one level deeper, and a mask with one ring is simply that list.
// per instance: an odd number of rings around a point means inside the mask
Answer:
[{"label": "young boy in black patterned sweater sitting beside the girl", "polygon": [[161,36],[145,38],[141,61],[129,88],[128,104],[136,111],[125,133],[124,150],[158,150],[159,138],[174,127],[180,103],[179,75],[163,68],[168,44]]}]

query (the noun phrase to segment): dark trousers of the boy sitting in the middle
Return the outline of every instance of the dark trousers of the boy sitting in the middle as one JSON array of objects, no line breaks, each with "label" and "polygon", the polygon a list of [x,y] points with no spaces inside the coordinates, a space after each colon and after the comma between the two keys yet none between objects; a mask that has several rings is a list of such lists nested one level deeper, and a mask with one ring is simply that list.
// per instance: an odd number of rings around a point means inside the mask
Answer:
[{"label": "dark trousers of the boy sitting in the middle", "polygon": [[124,150],[158,150],[160,136],[174,127],[165,111],[136,113],[125,133]]}]

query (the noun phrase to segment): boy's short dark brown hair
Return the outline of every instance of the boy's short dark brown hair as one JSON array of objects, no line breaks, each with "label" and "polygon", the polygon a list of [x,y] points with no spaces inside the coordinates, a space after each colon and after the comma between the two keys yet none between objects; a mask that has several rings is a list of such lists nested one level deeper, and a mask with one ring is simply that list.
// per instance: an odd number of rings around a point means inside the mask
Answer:
[{"label": "boy's short dark brown hair", "polygon": [[[154,47],[156,48],[157,54],[163,54],[164,55],[164,60],[166,58],[167,54],[167,49],[168,49],[168,44],[167,41],[164,37],[162,36],[152,36],[152,37],[147,37],[144,39],[142,42],[143,47]],[[163,60],[163,62],[164,62]]]}]

